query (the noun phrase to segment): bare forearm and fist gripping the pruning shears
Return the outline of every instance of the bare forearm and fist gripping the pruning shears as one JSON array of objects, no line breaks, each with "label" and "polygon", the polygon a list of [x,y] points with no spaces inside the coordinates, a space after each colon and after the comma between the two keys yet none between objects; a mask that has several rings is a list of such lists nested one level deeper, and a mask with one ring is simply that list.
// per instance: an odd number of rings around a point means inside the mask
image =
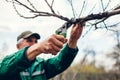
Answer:
[{"label": "bare forearm and fist gripping the pruning shears", "polygon": [[64,38],[64,36],[53,34],[48,39],[29,47],[27,50],[27,57],[29,60],[33,60],[41,53],[57,55],[66,42],[67,39]]}]

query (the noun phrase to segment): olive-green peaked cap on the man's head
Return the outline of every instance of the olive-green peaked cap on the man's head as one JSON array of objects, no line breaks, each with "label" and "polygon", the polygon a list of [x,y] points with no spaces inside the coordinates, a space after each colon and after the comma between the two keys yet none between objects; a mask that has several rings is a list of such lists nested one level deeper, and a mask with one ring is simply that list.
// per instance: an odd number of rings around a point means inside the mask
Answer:
[{"label": "olive-green peaked cap on the man's head", "polygon": [[17,41],[19,41],[20,39],[25,39],[25,38],[28,38],[30,36],[34,36],[36,37],[37,39],[40,39],[40,35],[38,33],[33,33],[31,31],[24,31],[22,32],[18,37],[17,37]]}]

